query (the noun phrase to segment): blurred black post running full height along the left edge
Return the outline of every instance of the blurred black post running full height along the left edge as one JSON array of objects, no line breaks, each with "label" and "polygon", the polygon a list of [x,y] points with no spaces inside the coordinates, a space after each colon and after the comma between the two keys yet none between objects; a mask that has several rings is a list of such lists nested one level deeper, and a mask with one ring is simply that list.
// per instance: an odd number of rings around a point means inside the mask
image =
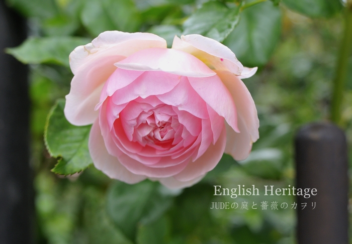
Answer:
[{"label": "blurred black post running full height along the left edge", "polygon": [[4,49],[26,39],[26,23],[0,0],[0,242],[33,243],[28,69]]}]

